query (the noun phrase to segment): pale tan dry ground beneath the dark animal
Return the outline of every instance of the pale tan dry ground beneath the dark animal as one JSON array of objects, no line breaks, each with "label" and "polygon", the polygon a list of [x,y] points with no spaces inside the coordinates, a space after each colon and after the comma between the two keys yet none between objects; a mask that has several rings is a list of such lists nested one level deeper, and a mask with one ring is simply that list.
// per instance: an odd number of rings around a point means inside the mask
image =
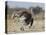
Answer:
[{"label": "pale tan dry ground beneath the dark animal", "polygon": [[[29,26],[23,26],[24,22],[20,22],[18,18],[15,19],[8,19],[7,20],[7,32],[8,33],[17,33],[17,32],[43,32],[45,31],[45,23],[44,19],[37,19],[34,20],[33,26],[29,28]],[[24,30],[20,28],[24,27]]]}]

